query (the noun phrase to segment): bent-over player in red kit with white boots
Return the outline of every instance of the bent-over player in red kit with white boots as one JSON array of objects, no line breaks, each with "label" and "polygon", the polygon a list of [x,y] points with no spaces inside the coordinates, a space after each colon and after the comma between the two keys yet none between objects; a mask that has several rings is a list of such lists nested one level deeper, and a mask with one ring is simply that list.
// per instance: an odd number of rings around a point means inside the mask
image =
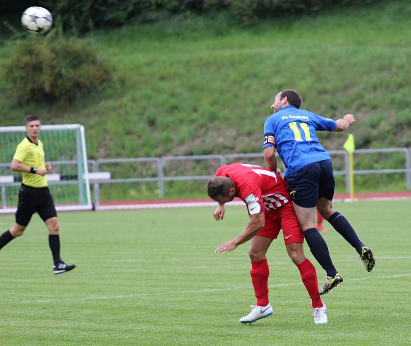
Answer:
[{"label": "bent-over player in red kit with white boots", "polygon": [[266,253],[273,239],[283,229],[287,253],[300,270],[301,278],[312,301],[314,322],[327,323],[327,308],[321,301],[314,265],[304,255],[304,236],[298,225],[294,208],[290,203],[287,184],[275,172],[256,165],[233,163],[221,166],[216,178],[208,184],[208,195],[218,202],[215,220],[222,220],[225,203],[239,197],[247,205],[250,221],[246,228],[232,240],[221,244],[216,254],[234,250],[251,239],[251,281],[257,298],[251,312],[240,318],[242,323],[252,323],[273,314],[268,299],[270,274]]}]

